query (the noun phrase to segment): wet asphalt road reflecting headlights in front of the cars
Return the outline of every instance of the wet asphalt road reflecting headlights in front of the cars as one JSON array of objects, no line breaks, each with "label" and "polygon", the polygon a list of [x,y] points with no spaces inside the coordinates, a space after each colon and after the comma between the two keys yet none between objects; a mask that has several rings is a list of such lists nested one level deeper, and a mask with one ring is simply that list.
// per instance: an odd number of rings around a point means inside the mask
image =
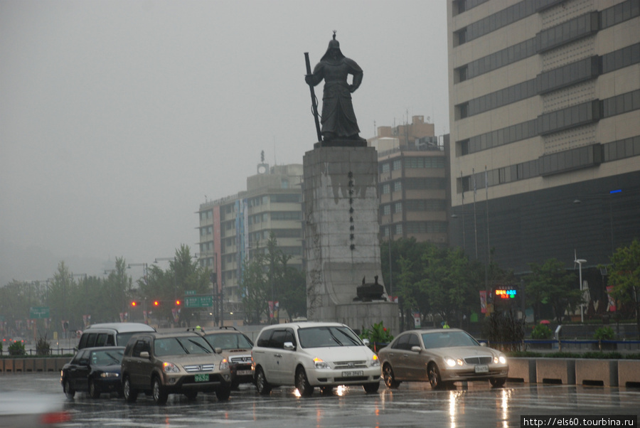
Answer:
[{"label": "wet asphalt road reflecting headlights in front of the cars", "polygon": [[0,390],[41,392],[59,399],[73,414],[65,427],[520,427],[521,415],[604,416],[640,414],[640,390],[625,387],[537,385],[489,382],[431,390],[427,384],[400,385],[377,394],[360,387],[340,388],[309,398],[294,388],[275,388],[262,397],[253,385],[240,385],[227,402],[200,394],[195,402],[169,395],[165,406],[139,395],[129,405],[116,395],[93,400],[77,393],[64,397],[57,373],[0,375]]}]

